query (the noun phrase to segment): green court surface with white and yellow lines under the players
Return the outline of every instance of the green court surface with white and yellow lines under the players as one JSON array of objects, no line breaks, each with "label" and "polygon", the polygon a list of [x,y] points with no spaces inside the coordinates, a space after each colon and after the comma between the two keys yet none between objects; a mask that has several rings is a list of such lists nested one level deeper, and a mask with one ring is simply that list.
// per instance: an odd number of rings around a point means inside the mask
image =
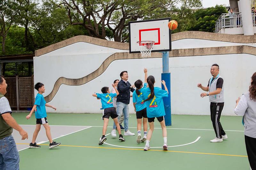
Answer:
[{"label": "green court surface with white and yellow lines under the players", "polygon": [[[21,125],[35,125],[35,117],[26,120],[28,113],[13,113],[12,115]],[[108,135],[106,143],[111,145],[99,146],[103,126],[101,116],[101,114],[48,114],[48,122],[50,126],[52,125],[52,130],[55,125],[58,125],[56,127],[60,130],[61,126],[71,129],[76,126],[89,127],[59,137],[56,141],[61,142],[61,145],[54,149],[49,149],[49,142],[46,142],[41,144],[41,148],[20,151],[20,169],[249,169],[241,117],[222,116],[221,124],[228,139],[222,143],[211,143],[210,140],[215,137],[215,133],[212,130],[210,116],[172,115],[172,126],[167,127],[168,146],[176,147],[169,147],[168,151],[162,150],[162,130],[155,120],[156,129],[150,141],[152,148],[146,152],[143,151],[144,143],[136,143],[137,122],[136,115],[133,114],[130,115],[129,127],[135,136],[124,136],[126,141],[120,142],[117,138]],[[113,121],[110,120],[107,134],[111,132],[112,125]],[[33,131],[34,126],[31,128]],[[39,135],[46,136],[45,134]],[[16,136],[15,140],[17,137],[19,136]],[[195,142],[198,137],[201,138]],[[21,145],[27,146],[31,138],[30,135],[29,140],[22,141],[22,143],[16,142],[18,148]]]}]

